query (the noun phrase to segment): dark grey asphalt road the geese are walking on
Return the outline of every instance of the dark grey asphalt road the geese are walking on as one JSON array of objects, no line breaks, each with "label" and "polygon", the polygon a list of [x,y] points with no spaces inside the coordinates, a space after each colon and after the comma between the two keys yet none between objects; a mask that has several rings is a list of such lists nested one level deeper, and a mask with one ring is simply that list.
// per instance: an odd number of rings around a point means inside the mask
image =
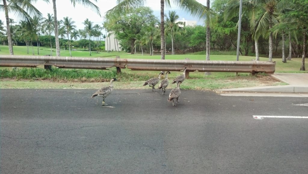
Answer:
[{"label": "dark grey asphalt road the geese are walking on", "polygon": [[[2,174],[307,174],[307,98],[0,91]],[[168,94],[170,90],[166,91]]]}]

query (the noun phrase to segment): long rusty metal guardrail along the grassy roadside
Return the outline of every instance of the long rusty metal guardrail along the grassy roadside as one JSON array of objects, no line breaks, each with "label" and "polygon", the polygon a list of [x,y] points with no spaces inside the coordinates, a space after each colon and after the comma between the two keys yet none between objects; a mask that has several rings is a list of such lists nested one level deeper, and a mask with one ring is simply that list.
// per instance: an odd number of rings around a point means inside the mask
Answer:
[{"label": "long rusty metal guardrail along the grassy roadside", "polygon": [[106,69],[115,66],[131,70],[152,71],[180,71],[186,67],[187,72],[248,72],[253,74],[273,74],[275,72],[276,62],[0,55],[0,66],[37,67],[40,65],[76,69]]}]

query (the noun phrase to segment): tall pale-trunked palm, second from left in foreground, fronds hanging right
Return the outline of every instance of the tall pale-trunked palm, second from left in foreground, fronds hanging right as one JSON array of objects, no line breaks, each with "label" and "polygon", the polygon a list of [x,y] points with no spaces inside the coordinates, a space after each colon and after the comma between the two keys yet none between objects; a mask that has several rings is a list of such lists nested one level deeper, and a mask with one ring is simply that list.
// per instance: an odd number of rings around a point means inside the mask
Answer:
[{"label": "tall pale-trunked palm, second from left in foreground, fronds hanging right", "polygon": [[[97,2],[98,0],[93,0],[94,2]],[[96,6],[94,3],[92,3],[89,0],[71,0],[71,3],[73,4],[73,6],[75,7],[76,2],[79,4],[82,4],[85,7],[91,7],[91,9],[95,9],[97,11],[97,14],[99,16],[100,12],[99,12],[99,7]],[[60,56],[60,45],[59,45],[59,32],[58,32],[58,20],[57,20],[57,7],[56,7],[56,0],[52,0],[52,4],[53,4],[53,9],[54,9],[54,18],[55,18],[55,40],[56,40],[56,50],[57,50],[57,56]]]}]

